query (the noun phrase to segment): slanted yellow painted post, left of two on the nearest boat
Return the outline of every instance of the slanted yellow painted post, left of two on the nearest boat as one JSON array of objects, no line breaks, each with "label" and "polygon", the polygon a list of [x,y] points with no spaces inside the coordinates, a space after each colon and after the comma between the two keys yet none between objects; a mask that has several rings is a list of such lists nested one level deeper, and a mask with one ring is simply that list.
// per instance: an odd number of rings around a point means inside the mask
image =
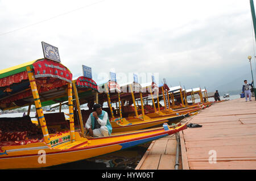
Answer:
[{"label": "slanted yellow painted post, left of two on the nearest boat", "polygon": [[39,123],[44,136],[44,142],[46,142],[47,146],[51,147],[49,133],[46,125],[46,119],[44,118],[44,113],[42,110],[42,105],[41,105],[39,94],[38,94],[38,88],[36,87],[35,76],[30,66],[27,66],[26,69],[27,69],[28,79],[30,81],[32,95],[35,102],[36,112],[38,113]]}]

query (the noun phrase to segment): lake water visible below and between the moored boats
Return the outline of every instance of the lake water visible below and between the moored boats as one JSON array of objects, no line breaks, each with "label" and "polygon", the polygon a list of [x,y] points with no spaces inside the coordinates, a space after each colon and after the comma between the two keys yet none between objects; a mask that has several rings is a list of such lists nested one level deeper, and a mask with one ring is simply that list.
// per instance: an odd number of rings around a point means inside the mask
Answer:
[{"label": "lake water visible below and between the moored boats", "polygon": [[[238,99],[240,95],[230,95],[229,98],[223,98],[221,96],[221,100],[225,99]],[[196,99],[196,102],[199,102],[200,99]],[[209,101],[214,101],[213,98],[209,98]],[[164,105],[163,100],[160,101],[162,105]],[[68,113],[69,110],[62,110],[65,113]],[[58,112],[58,111],[56,111]],[[44,112],[45,113],[45,112]],[[49,113],[49,112],[48,112]],[[23,116],[23,112],[20,113],[7,113],[2,114],[0,117],[21,117]],[[35,116],[35,112],[30,113],[31,117]],[[66,163],[59,166],[51,166],[46,169],[132,169],[138,165],[139,161],[143,157],[144,153],[146,153],[148,146],[151,142],[147,144],[135,146],[134,148],[117,151],[114,153],[109,153],[106,155],[101,155],[94,158],[84,159],[82,161],[77,161],[73,163]]]}]

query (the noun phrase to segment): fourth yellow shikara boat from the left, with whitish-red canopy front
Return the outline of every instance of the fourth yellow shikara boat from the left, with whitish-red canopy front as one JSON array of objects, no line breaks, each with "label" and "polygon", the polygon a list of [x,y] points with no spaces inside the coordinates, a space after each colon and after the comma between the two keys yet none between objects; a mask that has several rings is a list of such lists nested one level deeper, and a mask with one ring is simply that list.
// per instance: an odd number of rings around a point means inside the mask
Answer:
[{"label": "fourth yellow shikara boat from the left, with whitish-red canopy front", "polygon": [[[121,107],[119,107],[119,111],[121,110],[119,116],[121,115],[122,119],[120,117],[120,120],[122,121],[118,121],[117,123],[126,124],[126,129],[134,130],[154,127],[155,125],[159,125],[162,123],[170,123],[170,121],[174,120],[179,121],[181,119],[184,119],[185,117],[184,115],[177,115],[176,113],[173,115],[158,115],[155,117],[150,117],[149,115],[151,113],[147,112],[146,109],[144,109],[143,102],[143,97],[148,96],[148,94],[150,94],[149,92],[142,92],[141,85],[139,85],[139,83],[137,82],[124,83],[123,85],[120,85],[120,89],[121,93],[119,93],[119,95],[113,94],[111,98],[108,98],[108,102],[110,107],[112,107],[111,102],[118,101],[118,104],[121,105]],[[139,99],[141,105],[139,105],[138,100],[137,102],[135,101],[136,99]],[[124,111],[125,109],[128,111]],[[113,119],[114,118],[115,117],[113,117]],[[123,129],[122,127],[119,127],[119,125],[112,125],[113,129]]]}]

